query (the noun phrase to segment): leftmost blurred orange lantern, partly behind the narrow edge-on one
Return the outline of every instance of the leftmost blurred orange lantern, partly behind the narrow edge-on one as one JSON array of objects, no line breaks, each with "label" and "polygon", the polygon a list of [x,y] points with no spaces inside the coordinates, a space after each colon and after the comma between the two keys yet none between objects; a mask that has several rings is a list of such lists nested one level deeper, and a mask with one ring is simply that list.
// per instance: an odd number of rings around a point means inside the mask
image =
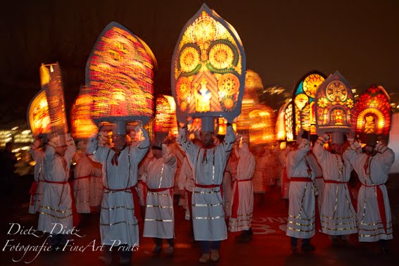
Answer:
[{"label": "leftmost blurred orange lantern, partly behind the narrow edge-on one", "polygon": [[34,137],[51,133],[51,120],[47,104],[46,91],[42,89],[30,101],[27,108],[27,125]]}]

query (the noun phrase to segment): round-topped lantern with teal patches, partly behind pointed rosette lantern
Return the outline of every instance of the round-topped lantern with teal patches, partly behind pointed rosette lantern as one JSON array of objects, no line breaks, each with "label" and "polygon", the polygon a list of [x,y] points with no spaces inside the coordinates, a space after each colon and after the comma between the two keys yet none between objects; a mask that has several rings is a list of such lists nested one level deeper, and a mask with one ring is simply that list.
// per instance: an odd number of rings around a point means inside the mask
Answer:
[{"label": "round-topped lantern with teal patches, partly behind pointed rosette lantern", "polygon": [[293,113],[294,113],[294,138],[301,127],[316,134],[315,96],[319,85],[324,82],[325,75],[312,71],[304,75],[293,89]]}]

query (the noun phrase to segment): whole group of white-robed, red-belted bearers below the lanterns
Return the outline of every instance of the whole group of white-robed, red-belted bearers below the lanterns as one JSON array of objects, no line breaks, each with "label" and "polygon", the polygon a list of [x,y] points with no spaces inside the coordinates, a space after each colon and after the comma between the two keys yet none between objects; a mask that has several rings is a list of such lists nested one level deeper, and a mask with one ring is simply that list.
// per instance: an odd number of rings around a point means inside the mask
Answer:
[{"label": "whole group of white-robed, red-belted bearers below the lanterns", "polygon": [[[31,146],[36,165],[29,212],[39,213],[38,229],[57,248],[67,239],[52,234],[53,224],[72,228],[83,217],[78,213],[100,213],[101,243],[118,241],[122,264],[130,263],[139,246],[139,226],[153,239],[153,253],[161,253],[166,239],[165,253],[172,254],[179,195],[192,239],[201,246],[199,262],[217,262],[227,230],[241,232],[238,241],[251,241],[254,198],[262,203],[279,185],[281,197],[289,199],[292,253],[299,252],[298,239],[302,252],[314,251],[310,241],[317,232],[329,235],[333,245],[358,234],[359,241],[379,241],[388,251],[393,234],[384,184],[394,153],[384,141],[364,139],[361,148],[351,134],[344,141],[343,134],[332,133],[312,144],[309,133],[300,132],[284,151],[251,148],[248,135],[236,134],[230,122],[222,139],[206,128],[197,138],[187,136],[184,123],[175,141],[156,143],[141,126],[129,134],[117,127],[111,140],[107,132],[88,140],[74,141],[69,134],[37,138]],[[361,184],[357,198],[348,186],[353,170]],[[106,248],[99,258],[109,265],[113,256]]]}]

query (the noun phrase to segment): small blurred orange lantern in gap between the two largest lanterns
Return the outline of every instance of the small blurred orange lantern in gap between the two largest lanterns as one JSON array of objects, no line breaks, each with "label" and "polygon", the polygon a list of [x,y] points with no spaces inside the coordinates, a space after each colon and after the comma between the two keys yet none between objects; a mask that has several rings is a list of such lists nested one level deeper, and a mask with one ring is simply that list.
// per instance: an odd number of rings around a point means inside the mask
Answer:
[{"label": "small blurred orange lantern in gap between the two largest lanterns", "polygon": [[172,96],[161,95],[156,99],[154,132],[169,133],[169,137],[177,136],[176,104]]}]

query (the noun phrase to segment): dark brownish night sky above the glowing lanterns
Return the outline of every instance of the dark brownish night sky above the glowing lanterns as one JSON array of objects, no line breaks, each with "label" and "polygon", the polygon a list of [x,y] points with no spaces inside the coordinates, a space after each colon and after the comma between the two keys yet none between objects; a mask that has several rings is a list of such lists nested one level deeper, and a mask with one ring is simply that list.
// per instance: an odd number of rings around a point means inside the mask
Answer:
[{"label": "dark brownish night sky above the glowing lanterns", "polygon": [[[10,3],[11,2],[11,3]],[[243,42],[247,68],[290,93],[306,72],[341,72],[363,91],[383,85],[399,104],[399,1],[205,1]],[[144,40],[158,61],[156,94],[170,92],[170,61],[200,0],[8,1],[1,8],[0,124],[25,120],[39,66],[58,61],[71,106],[99,34],[111,21]],[[278,108],[279,106],[272,106]]]}]

